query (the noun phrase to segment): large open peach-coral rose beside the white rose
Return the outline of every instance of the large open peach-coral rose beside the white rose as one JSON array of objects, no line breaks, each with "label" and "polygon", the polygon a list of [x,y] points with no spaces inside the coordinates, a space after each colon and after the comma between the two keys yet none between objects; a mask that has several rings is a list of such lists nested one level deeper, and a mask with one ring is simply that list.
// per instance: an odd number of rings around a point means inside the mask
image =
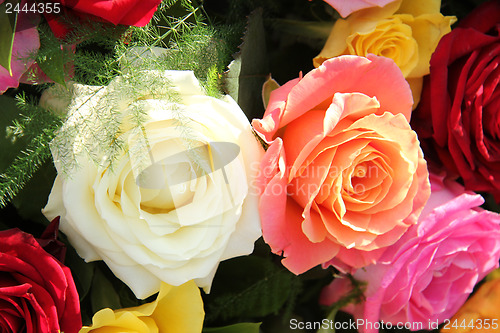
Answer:
[{"label": "large open peach-coral rose beside the white rose", "polygon": [[325,61],[271,93],[257,133],[264,240],[299,274],[374,262],[416,223],[430,187],[408,124],[411,92],[390,59]]}]

